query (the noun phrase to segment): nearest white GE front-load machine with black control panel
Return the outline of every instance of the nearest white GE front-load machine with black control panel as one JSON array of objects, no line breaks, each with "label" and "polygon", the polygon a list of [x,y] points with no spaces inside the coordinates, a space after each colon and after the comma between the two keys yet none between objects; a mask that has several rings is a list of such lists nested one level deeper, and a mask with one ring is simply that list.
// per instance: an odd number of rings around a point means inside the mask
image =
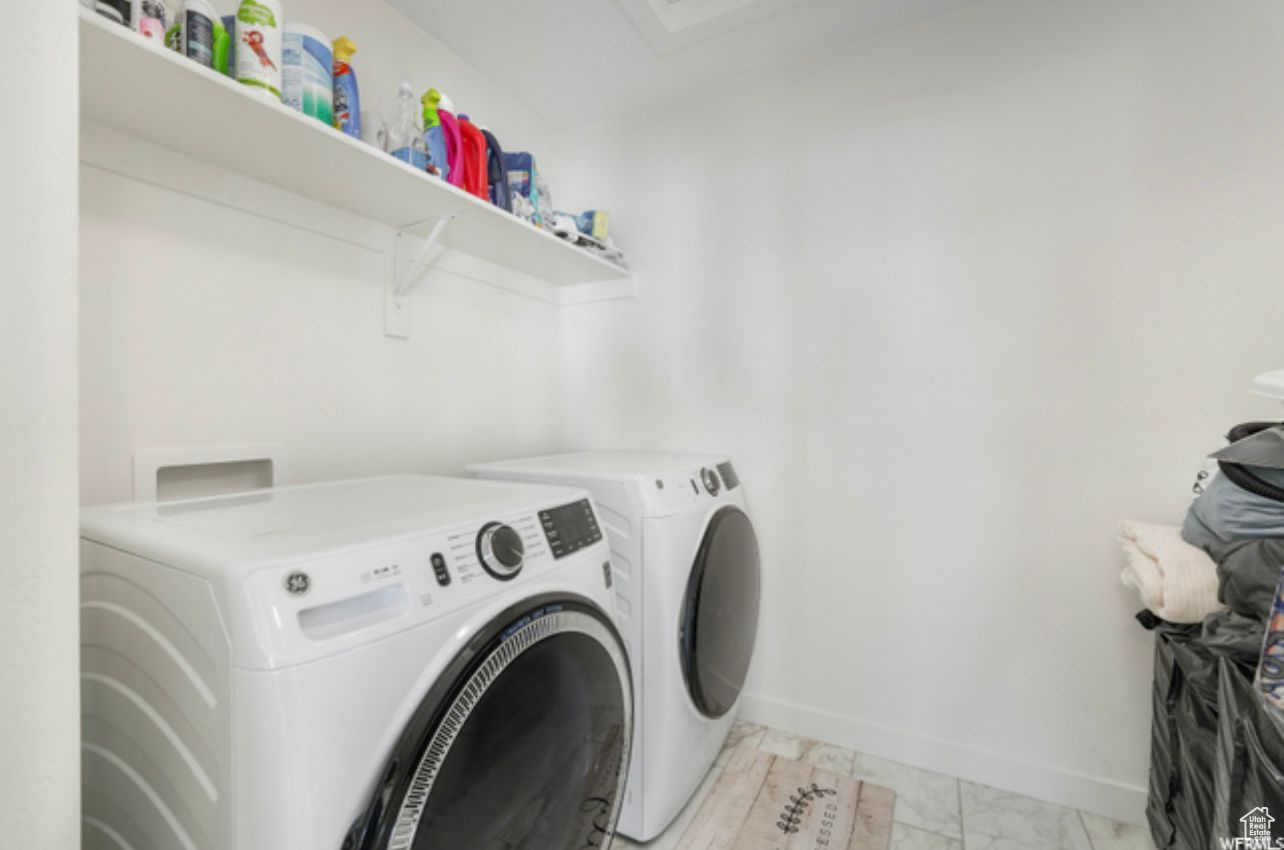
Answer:
[{"label": "nearest white GE front-load machine with black control panel", "polygon": [[86,510],[83,846],[607,845],[598,529],[584,492],[424,476]]}]

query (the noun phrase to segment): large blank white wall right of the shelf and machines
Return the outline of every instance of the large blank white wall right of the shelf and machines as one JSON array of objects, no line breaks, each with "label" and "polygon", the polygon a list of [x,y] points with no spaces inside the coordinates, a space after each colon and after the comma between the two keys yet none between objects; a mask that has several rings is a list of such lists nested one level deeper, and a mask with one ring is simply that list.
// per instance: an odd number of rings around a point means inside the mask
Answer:
[{"label": "large blank white wall right of the shelf and machines", "polygon": [[564,315],[566,442],[734,456],[751,715],[1140,817],[1113,532],[1278,413],[1281,36],[1269,0],[993,0],[571,139],[560,196],[642,297]]}]

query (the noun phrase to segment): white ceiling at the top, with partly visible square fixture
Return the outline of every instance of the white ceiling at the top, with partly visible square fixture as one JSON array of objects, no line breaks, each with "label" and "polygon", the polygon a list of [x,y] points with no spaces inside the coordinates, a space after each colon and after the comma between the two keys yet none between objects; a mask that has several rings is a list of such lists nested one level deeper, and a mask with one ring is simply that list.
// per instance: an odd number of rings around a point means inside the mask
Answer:
[{"label": "white ceiling at the top, with partly visible square fixture", "polygon": [[390,0],[557,128],[972,0]]}]

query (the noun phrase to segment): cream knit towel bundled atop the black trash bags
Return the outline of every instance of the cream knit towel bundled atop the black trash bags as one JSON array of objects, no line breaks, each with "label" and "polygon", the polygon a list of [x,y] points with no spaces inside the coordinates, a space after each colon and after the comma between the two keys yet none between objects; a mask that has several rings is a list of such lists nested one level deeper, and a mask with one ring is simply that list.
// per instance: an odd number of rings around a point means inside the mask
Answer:
[{"label": "cream knit towel bundled atop the black trash bags", "polygon": [[1170,623],[1202,623],[1224,606],[1217,601],[1217,565],[1181,539],[1181,529],[1126,520],[1120,543],[1127,566],[1120,578],[1141,603]]}]

